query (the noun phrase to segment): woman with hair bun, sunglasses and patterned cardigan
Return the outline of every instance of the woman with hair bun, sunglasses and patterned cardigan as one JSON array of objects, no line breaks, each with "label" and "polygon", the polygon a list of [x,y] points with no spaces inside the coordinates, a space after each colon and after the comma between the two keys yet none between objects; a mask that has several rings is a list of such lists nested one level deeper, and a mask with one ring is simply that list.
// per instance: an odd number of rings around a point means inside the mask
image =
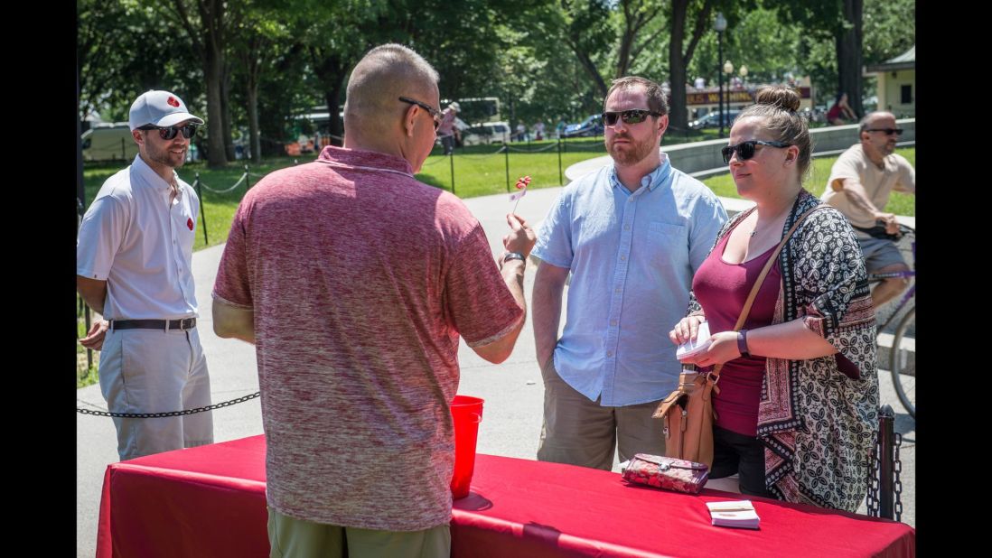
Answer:
[{"label": "woman with hair bun, sunglasses and patterned cardigan", "polygon": [[703,321],[714,333],[683,361],[723,365],[710,478],[738,473],[743,494],[853,511],[878,420],[874,309],[850,224],[803,187],[811,145],[799,103],[789,87],[766,87],[734,122],[724,161],[756,206],[717,235],[692,279],[688,315],[669,335],[695,339]]}]

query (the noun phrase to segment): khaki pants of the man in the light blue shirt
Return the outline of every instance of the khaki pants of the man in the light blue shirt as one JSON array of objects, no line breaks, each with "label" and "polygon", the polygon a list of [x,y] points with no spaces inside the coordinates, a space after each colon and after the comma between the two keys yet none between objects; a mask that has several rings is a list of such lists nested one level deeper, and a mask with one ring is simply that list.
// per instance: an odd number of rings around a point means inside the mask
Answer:
[{"label": "khaki pants of the man in the light blue shirt", "polygon": [[[605,407],[565,384],[555,359],[541,371],[545,380],[545,421],[539,461],[610,471],[613,453],[627,461],[636,453],[665,455],[664,421],[652,418],[659,401]],[[619,444],[619,447],[618,447]]]}]

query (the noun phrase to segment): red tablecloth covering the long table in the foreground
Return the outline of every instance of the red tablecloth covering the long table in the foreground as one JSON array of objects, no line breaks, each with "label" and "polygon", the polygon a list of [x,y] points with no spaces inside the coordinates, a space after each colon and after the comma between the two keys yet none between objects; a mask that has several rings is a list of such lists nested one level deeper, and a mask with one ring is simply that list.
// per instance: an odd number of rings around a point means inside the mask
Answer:
[{"label": "red tablecloth covering the long table in the foreground", "polygon": [[[472,494],[454,502],[451,556],[915,556],[916,529],[765,499],[761,529],[709,524],[705,502],[627,486],[606,471],[478,455]],[[112,464],[96,554],[266,557],[265,438]]]}]

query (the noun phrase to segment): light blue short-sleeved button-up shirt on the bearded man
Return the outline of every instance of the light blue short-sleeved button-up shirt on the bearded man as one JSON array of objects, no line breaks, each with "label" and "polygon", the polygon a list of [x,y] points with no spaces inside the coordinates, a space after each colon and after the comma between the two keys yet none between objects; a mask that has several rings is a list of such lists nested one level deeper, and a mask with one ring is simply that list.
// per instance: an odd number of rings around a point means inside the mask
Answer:
[{"label": "light blue short-sleeved button-up shirt on the bearded man", "polygon": [[688,306],[692,275],[727,220],[702,182],[662,165],[630,192],[612,165],[568,184],[533,254],[571,271],[555,369],[603,406],[663,398],[682,370],[669,331]]}]

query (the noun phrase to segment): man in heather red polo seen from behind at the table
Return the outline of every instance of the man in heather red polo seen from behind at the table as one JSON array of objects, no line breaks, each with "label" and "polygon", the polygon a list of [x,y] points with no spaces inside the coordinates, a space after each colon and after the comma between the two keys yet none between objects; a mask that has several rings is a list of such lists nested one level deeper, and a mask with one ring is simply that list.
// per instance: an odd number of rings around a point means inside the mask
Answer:
[{"label": "man in heather red polo seen from behind at the table", "polygon": [[535,234],[508,215],[498,265],[461,201],[414,178],[437,72],[399,45],[355,66],[344,148],[245,195],[214,330],[255,343],[273,556],[448,556],[458,338],[503,362]]}]

